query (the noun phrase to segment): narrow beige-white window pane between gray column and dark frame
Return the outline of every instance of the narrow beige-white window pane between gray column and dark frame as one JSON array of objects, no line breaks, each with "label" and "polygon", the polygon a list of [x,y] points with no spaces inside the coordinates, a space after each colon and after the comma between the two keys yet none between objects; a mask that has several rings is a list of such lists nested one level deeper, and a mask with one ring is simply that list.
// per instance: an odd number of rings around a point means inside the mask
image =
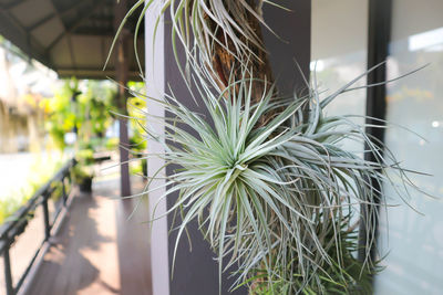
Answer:
[{"label": "narrow beige-white window pane between gray column and dark frame", "polygon": [[[311,18],[311,70],[316,67],[320,89],[330,94],[365,72],[368,0],[313,0]],[[356,86],[362,86],[365,80]],[[327,115],[364,115],[365,89],[346,93],[326,109]],[[356,119],[364,123],[363,118]],[[350,150],[362,144],[346,143]]]}]

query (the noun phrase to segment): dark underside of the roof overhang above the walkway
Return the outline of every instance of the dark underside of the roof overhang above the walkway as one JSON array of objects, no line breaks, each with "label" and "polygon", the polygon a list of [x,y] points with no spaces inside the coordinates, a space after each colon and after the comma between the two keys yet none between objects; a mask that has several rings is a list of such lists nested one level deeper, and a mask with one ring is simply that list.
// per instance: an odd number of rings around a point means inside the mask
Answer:
[{"label": "dark underside of the roof overhang above the walkway", "polygon": [[[103,65],[114,38],[115,3],[116,0],[0,0],[0,34],[61,77],[114,78],[114,54],[105,71]],[[136,19],[128,20],[127,32],[133,32],[135,22]],[[140,81],[133,42],[127,42],[126,49],[128,78]],[[144,64],[143,31],[137,51]]]}]

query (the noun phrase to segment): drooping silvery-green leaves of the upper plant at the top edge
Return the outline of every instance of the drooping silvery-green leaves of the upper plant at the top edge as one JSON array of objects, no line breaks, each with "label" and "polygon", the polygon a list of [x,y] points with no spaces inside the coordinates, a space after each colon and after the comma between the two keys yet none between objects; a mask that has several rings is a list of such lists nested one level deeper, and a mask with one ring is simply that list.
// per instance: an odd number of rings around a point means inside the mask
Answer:
[{"label": "drooping silvery-green leaves of the upper plant at the top edge", "polygon": [[[270,30],[261,14],[264,2],[285,10],[278,3],[265,0],[138,0],[127,12],[116,35],[121,33],[131,15],[140,13],[134,32],[134,49],[137,49],[137,35],[143,18],[151,8],[157,7],[162,13],[154,15],[156,18],[154,35],[163,14],[167,13],[172,22],[172,43],[177,61],[177,49],[182,45],[187,60],[194,62],[200,60],[206,66],[212,66],[214,48],[218,45],[230,52],[238,62],[245,63],[258,59],[250,49],[251,45],[262,49],[262,41],[250,27],[248,17],[256,18]],[[111,45],[105,66],[115,42],[116,38]],[[143,66],[136,50],[135,57],[143,76]]]}]

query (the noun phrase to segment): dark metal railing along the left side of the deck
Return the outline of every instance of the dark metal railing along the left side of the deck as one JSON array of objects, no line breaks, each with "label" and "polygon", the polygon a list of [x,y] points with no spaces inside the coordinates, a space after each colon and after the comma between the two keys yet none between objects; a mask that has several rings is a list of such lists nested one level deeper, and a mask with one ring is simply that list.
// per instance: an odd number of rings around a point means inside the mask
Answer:
[{"label": "dark metal railing along the left side of the deck", "polygon": [[[72,188],[71,169],[76,165],[75,159],[69,160],[44,186],[42,186],[32,196],[31,199],[27,201],[19,210],[16,211],[12,217],[8,218],[8,221],[0,226],[0,254],[3,256],[4,266],[4,283],[7,295],[14,295],[22,286],[24,280],[27,278],[31,267],[33,266],[37,257],[43,249],[43,245],[51,236],[51,230],[59,219],[60,212],[66,207],[66,201],[69,197],[68,188]],[[68,183],[66,183],[68,182]],[[53,197],[54,191],[60,189],[61,186],[61,206],[55,209],[55,212],[50,215],[50,209],[48,201]],[[21,277],[14,285],[12,282],[11,272],[11,260],[10,260],[10,249],[16,242],[17,238],[20,236],[29,221],[33,217],[33,212],[42,207],[43,210],[43,222],[44,222],[44,239],[34,255],[32,256],[29,265],[21,274]]]}]

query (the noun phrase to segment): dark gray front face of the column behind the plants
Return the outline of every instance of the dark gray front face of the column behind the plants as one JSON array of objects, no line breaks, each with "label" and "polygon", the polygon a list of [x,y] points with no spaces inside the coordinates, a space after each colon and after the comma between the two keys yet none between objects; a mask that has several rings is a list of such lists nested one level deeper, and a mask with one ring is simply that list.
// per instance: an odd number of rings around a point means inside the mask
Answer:
[{"label": "dark gray front face of the column behind the plants", "polygon": [[[277,77],[277,84],[281,93],[292,93],[293,89],[301,89],[301,75],[299,74],[293,59],[297,59],[305,75],[309,76],[310,62],[310,0],[286,1],[284,3],[292,12],[282,11],[277,8],[267,6],[265,8],[265,17],[267,23],[287,41],[282,42],[266,29],[264,29],[266,48],[270,54],[272,71]],[[171,42],[171,22],[165,22],[165,83],[171,85],[177,98],[190,109],[205,113],[195,106],[195,103],[183,82],[183,78],[175,64],[172,42]],[[167,175],[172,175],[176,167],[168,167]],[[168,197],[167,207],[171,208],[177,196]],[[172,217],[168,218],[168,226],[171,226]],[[214,257],[216,256],[209,249],[206,241],[203,240],[202,233],[197,229],[196,222],[189,228],[189,234],[193,243],[193,251],[189,252],[187,238],[183,238],[175,262],[174,278],[171,282],[172,295],[215,295],[218,294],[218,265]],[[169,267],[172,265],[173,251],[176,234],[172,233],[168,239],[169,244]],[[246,295],[247,289],[241,288],[234,293],[228,289],[233,284],[233,280],[228,278],[229,273],[223,276],[223,294]]]}]

